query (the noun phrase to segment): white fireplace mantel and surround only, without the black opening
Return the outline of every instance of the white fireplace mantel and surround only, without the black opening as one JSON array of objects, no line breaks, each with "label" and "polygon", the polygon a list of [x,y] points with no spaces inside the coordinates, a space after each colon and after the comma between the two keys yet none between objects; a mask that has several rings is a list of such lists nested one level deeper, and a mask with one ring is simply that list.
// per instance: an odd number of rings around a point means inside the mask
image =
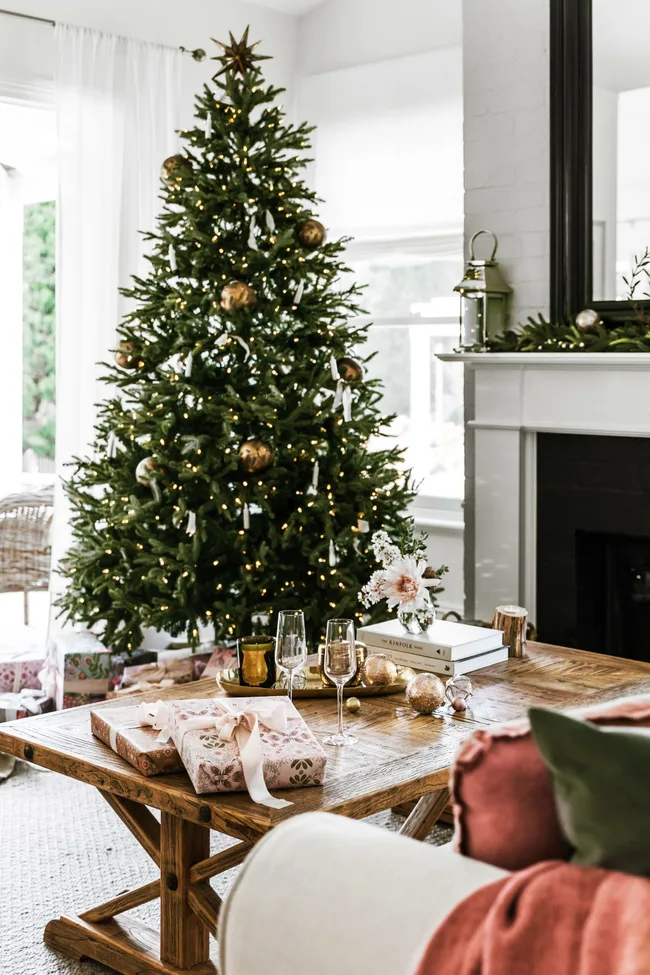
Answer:
[{"label": "white fireplace mantel and surround only, without the black opening", "polygon": [[538,433],[650,437],[650,354],[439,355],[465,369],[466,615],[536,618]]}]

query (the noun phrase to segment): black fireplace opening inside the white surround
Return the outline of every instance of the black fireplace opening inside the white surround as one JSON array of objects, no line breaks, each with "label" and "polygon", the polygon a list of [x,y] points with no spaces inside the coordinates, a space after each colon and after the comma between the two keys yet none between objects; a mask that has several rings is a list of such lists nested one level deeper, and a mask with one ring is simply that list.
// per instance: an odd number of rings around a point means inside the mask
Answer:
[{"label": "black fireplace opening inside the white surround", "polygon": [[650,661],[650,439],[537,437],[539,639]]}]

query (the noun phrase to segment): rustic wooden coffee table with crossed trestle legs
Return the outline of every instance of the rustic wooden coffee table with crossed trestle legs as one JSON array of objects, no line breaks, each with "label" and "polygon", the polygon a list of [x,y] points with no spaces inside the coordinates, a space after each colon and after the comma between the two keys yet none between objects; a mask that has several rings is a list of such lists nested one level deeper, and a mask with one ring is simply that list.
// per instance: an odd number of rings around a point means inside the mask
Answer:
[{"label": "rustic wooden coffee table with crossed trestle legs", "polygon": [[[145,778],[93,738],[88,706],[0,725],[0,751],[95,786],[160,868],[160,880],[78,916],[50,921],[46,943],[72,958],[94,958],[124,975],[181,975],[190,970],[193,975],[215,975],[209,935],[216,935],[221,901],[209,878],[241,863],[273,826],[314,810],[360,819],[419,799],[401,832],[423,839],[447,804],[454,754],[473,730],[521,717],[531,705],[577,707],[648,693],[650,664],[529,644],[527,657],[486,668],[471,679],[472,707],[460,715],[447,709],[440,715],[415,715],[403,694],[364,698],[358,714],[346,718],[359,744],[328,750],[324,785],[283,791],[293,805],[280,810],[256,805],[242,793],[198,796],[185,774]],[[210,680],[137,699],[214,693]],[[332,700],[296,703],[317,737],[332,729]],[[148,806],[160,810],[160,822]],[[239,842],[211,857],[211,829]],[[133,920],[116,920],[158,897],[160,933]]]}]

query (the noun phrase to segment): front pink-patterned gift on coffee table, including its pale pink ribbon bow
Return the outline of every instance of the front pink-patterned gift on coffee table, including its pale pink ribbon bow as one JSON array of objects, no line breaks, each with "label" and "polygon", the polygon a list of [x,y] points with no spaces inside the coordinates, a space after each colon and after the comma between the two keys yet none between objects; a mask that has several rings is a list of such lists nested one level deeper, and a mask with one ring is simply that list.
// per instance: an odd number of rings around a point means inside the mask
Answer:
[{"label": "front pink-patterned gift on coffee table, including its pale pink ribbon bow", "polygon": [[269,789],[320,785],[327,756],[285,696],[157,701],[140,721],[173,740],[192,785],[206,792],[248,792],[272,808],[290,805]]}]

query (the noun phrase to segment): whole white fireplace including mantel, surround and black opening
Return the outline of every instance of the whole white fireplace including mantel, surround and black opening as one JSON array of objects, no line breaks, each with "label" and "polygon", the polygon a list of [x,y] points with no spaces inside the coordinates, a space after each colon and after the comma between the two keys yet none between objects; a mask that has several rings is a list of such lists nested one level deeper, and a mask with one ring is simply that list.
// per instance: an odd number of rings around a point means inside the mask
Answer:
[{"label": "whole white fireplace including mantel, surround and black opening", "polygon": [[465,616],[517,603],[544,639],[647,659],[650,355],[439,358],[465,366]]}]

